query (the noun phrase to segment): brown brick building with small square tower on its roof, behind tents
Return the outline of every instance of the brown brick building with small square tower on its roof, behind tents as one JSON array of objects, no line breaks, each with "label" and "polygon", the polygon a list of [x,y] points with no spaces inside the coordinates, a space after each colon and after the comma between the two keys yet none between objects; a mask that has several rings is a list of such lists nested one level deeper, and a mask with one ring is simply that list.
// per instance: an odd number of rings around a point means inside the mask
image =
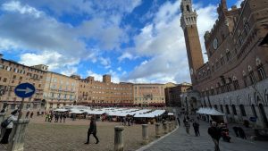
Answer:
[{"label": "brown brick building with small square tower on its roof, behind tents", "polygon": [[133,105],[133,84],[113,83],[110,75],[104,75],[103,81],[94,80],[94,77],[80,80],[80,105],[103,106],[130,106]]}]

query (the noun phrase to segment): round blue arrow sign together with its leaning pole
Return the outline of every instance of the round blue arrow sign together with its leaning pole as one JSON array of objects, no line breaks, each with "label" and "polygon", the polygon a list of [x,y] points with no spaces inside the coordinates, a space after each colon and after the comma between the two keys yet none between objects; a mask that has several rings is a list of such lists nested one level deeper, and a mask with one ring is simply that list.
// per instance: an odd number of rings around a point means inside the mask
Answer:
[{"label": "round blue arrow sign together with its leaning pole", "polygon": [[20,130],[18,131],[18,127],[19,127],[18,124],[20,123],[20,119],[21,119],[21,116],[22,116],[22,108],[23,108],[23,104],[24,104],[24,98],[34,95],[35,92],[36,92],[36,88],[30,83],[21,83],[20,85],[18,85],[14,89],[15,95],[21,97],[22,100],[21,100],[21,105],[20,105],[20,108],[19,108],[19,115],[18,115],[17,125],[15,126],[15,130],[13,132],[12,144],[8,148],[10,151],[13,151],[13,149],[15,147],[15,143],[14,143],[15,142],[15,136],[16,135],[20,136],[20,134],[17,134],[17,132],[20,133]]}]

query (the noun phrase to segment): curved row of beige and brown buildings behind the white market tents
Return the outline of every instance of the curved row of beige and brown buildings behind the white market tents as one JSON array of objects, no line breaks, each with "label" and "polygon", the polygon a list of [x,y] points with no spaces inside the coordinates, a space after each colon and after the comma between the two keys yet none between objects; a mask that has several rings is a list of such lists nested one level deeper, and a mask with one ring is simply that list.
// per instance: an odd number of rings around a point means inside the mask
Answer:
[{"label": "curved row of beige and brown buildings behind the white market tents", "polygon": [[47,71],[44,64],[26,66],[2,58],[0,62],[0,107],[15,109],[21,98],[14,88],[24,82],[33,84],[36,93],[25,99],[25,109],[53,110],[65,105],[97,106],[163,106],[163,84],[113,83],[111,75],[102,81],[94,77],[81,79],[79,75],[65,76]]}]

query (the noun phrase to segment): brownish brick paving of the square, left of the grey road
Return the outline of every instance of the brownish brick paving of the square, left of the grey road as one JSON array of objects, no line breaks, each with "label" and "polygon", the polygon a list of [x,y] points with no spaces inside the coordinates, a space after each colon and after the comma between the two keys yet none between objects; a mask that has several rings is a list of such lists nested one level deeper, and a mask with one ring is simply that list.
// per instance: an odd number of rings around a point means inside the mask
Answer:
[{"label": "brownish brick paving of the square, left of the grey road", "polygon": [[[26,130],[25,151],[110,151],[113,150],[114,126],[120,122],[96,122],[99,144],[90,136],[90,144],[84,145],[87,140],[88,120],[63,122],[44,122],[44,118],[30,119]],[[155,140],[155,125],[148,125],[149,140]],[[133,151],[142,146],[141,125],[125,126],[124,148]],[[5,150],[0,145],[0,151]]]}]

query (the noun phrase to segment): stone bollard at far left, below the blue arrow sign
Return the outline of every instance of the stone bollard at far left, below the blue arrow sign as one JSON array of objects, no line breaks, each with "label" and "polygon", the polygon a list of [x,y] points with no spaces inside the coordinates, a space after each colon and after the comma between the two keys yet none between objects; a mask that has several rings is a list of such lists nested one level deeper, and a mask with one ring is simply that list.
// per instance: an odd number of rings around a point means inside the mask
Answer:
[{"label": "stone bollard at far left, below the blue arrow sign", "polygon": [[[25,137],[25,130],[29,123],[29,119],[20,119],[19,122],[13,122],[13,131],[9,138],[8,150],[9,151],[23,151],[24,149],[24,137]],[[16,134],[14,131],[17,127]]]}]

